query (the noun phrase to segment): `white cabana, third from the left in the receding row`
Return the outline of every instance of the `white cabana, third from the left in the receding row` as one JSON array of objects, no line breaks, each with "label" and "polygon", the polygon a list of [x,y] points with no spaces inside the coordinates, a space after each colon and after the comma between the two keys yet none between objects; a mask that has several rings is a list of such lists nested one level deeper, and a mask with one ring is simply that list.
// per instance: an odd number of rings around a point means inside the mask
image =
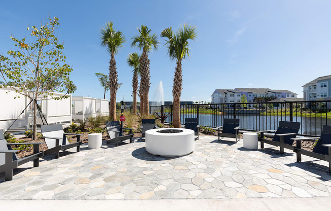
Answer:
[{"label": "white cabana, third from the left in the receding row", "polygon": [[89,117],[96,117],[96,99],[92,97],[73,97],[73,119],[85,121]]}]

